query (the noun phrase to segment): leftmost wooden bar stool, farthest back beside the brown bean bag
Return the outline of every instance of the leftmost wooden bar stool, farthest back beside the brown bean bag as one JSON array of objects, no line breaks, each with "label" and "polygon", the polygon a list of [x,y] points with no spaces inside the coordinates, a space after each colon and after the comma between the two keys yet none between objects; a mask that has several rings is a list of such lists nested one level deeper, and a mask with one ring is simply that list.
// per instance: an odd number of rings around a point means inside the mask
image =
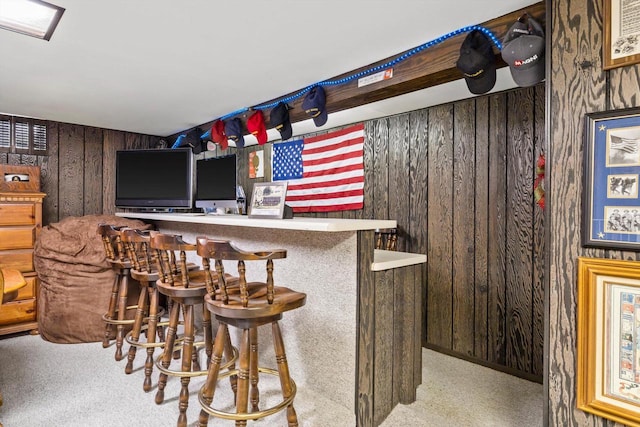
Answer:
[{"label": "leftmost wooden bar stool, farthest back beside the brown bean bag", "polygon": [[106,313],[102,315],[105,322],[104,339],[102,347],[107,348],[116,327],[116,353],[115,359],[122,360],[122,344],[124,342],[125,325],[133,325],[134,320],[127,318],[128,310],[135,310],[137,306],[127,306],[129,297],[129,275],[131,261],[122,243],[121,233],[126,227],[117,227],[111,224],[98,224],[98,234],[102,237],[107,261],[116,273],[116,280],[111,288],[111,298]]}]

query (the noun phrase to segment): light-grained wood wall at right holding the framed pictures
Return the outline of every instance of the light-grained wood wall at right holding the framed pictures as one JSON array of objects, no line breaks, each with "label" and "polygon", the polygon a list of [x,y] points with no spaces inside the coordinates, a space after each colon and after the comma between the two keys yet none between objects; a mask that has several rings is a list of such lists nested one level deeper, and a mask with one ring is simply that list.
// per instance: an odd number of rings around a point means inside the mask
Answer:
[{"label": "light-grained wood wall at right holding the framed pictures", "polygon": [[545,425],[617,426],[576,409],[576,275],[579,256],[640,260],[637,252],[580,245],[583,130],[587,113],[640,106],[640,66],[603,70],[603,2],[547,1],[548,373]]}]

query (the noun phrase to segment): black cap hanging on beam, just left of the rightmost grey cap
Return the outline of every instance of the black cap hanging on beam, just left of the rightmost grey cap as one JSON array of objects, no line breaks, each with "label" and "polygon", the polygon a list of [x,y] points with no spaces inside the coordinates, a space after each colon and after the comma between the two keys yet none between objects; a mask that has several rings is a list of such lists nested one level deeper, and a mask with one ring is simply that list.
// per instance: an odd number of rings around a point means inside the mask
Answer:
[{"label": "black cap hanging on beam, just left of the rightmost grey cap", "polygon": [[480,30],[471,31],[460,46],[456,67],[464,75],[469,91],[489,92],[496,84],[496,58],[491,40]]}]

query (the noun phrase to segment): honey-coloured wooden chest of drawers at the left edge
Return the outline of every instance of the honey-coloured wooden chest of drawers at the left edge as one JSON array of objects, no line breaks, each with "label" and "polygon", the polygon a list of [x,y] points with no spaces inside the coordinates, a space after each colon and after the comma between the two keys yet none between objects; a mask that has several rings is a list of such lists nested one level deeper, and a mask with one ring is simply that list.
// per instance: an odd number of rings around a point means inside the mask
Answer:
[{"label": "honey-coloured wooden chest of drawers at the left edge", "polygon": [[0,191],[0,265],[20,270],[27,281],[15,300],[0,306],[0,335],[38,329],[39,288],[33,250],[42,229],[44,196],[38,192]]}]

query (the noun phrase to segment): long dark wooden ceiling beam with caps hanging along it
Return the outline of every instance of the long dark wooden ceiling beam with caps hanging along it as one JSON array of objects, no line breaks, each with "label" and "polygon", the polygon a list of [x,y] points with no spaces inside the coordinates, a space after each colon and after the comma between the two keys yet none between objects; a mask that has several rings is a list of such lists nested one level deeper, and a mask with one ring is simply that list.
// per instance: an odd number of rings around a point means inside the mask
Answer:
[{"label": "long dark wooden ceiling beam with caps hanging along it", "polygon": [[[525,12],[540,22],[544,27],[544,2],[535,3],[528,7],[477,25],[487,28],[498,38],[498,40],[502,41],[511,25],[513,25],[513,23],[516,22],[516,20]],[[369,104],[398,95],[404,95],[462,78],[460,71],[456,68],[456,61],[460,55],[460,45],[465,37],[465,33],[453,36],[398,62],[392,67],[393,77],[388,80],[382,80],[363,87],[358,87],[358,79],[353,79],[340,85],[325,86],[327,112],[329,114],[335,113],[337,111],[358,107],[360,105]],[[327,81],[339,80],[358,72],[386,64],[411,50],[412,49],[400,52],[392,57],[382,59],[373,64],[327,79]],[[507,64],[502,60],[501,54],[495,46],[494,53],[496,56],[496,66],[498,68],[505,67]],[[270,104],[279,99],[295,95],[302,89],[303,88],[300,88],[295,92],[266,101],[262,104]],[[304,96],[288,103],[292,107],[289,112],[289,117],[292,123],[309,119],[306,113],[302,110],[303,99]],[[259,105],[260,104],[257,104],[257,106]],[[241,117],[243,121],[246,122],[246,118],[250,114],[251,112],[247,112],[239,115],[238,117]],[[265,121],[267,128],[271,128],[269,123],[269,111],[265,111]],[[199,127],[203,130],[209,129],[213,122],[214,121],[205,123]]]}]

